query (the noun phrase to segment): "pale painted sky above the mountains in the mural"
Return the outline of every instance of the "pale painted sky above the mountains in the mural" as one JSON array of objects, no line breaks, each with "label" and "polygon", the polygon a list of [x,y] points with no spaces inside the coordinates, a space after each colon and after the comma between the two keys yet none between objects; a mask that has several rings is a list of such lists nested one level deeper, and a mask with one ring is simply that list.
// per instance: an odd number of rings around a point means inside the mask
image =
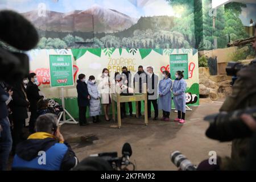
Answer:
[{"label": "pale painted sky above the mountains in the mural", "polygon": [[93,5],[114,9],[133,18],[141,16],[173,16],[174,11],[165,0],[0,0],[0,9],[13,9],[24,13],[38,9],[45,3],[47,10],[67,13],[73,10],[86,10]]}]

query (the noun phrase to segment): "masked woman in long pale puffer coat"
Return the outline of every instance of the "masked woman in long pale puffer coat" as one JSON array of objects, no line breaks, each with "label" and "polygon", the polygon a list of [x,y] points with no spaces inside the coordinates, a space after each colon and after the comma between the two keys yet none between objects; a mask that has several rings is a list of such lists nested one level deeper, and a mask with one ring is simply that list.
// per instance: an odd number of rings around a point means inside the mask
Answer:
[{"label": "masked woman in long pale puffer coat", "polygon": [[93,118],[93,122],[100,122],[99,115],[101,113],[101,94],[98,92],[95,77],[90,76],[87,82],[88,93],[90,95],[90,117]]}]

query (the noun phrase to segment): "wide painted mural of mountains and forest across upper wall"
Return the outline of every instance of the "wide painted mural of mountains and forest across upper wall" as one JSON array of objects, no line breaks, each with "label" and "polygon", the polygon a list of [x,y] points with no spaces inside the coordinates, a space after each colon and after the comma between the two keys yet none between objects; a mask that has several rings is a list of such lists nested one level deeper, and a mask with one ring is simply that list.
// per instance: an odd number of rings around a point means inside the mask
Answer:
[{"label": "wide painted mural of mountains and forest across upper wall", "polygon": [[[37,28],[37,48],[225,48],[247,38],[255,4],[211,0],[9,0]],[[1,43],[2,44],[2,43]]]}]

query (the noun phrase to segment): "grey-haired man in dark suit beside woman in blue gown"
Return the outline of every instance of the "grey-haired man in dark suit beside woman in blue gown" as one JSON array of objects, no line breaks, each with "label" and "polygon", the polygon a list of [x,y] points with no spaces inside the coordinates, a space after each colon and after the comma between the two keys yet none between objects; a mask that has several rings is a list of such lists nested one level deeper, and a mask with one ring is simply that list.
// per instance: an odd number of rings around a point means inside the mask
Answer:
[{"label": "grey-haired man in dark suit beside woman in blue gown", "polygon": [[151,102],[154,107],[155,117],[158,120],[158,76],[154,74],[154,68],[147,67],[147,113],[151,118]]}]

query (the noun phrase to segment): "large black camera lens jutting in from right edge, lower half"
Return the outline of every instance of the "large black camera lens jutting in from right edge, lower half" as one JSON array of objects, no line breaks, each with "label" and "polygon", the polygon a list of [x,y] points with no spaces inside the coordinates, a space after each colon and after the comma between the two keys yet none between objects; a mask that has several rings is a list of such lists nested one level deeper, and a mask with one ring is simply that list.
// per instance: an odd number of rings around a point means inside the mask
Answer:
[{"label": "large black camera lens jutting in from right edge, lower half", "polygon": [[221,142],[251,137],[253,131],[242,121],[242,114],[249,114],[256,119],[256,107],[208,115],[204,120],[209,121],[210,126],[205,134],[207,137],[220,140]]}]

